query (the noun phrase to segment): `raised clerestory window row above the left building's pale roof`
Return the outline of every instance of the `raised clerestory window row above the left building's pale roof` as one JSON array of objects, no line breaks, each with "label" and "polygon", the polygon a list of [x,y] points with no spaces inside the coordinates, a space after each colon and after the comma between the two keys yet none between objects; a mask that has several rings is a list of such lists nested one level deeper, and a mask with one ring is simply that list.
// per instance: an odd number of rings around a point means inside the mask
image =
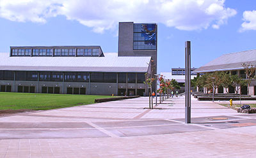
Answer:
[{"label": "raised clerestory window row above the left building's pale roof", "polygon": [[[54,50],[54,51],[53,51]],[[76,49],[12,49],[12,56],[76,56]],[[77,49],[77,56],[99,56],[99,49]]]}]

